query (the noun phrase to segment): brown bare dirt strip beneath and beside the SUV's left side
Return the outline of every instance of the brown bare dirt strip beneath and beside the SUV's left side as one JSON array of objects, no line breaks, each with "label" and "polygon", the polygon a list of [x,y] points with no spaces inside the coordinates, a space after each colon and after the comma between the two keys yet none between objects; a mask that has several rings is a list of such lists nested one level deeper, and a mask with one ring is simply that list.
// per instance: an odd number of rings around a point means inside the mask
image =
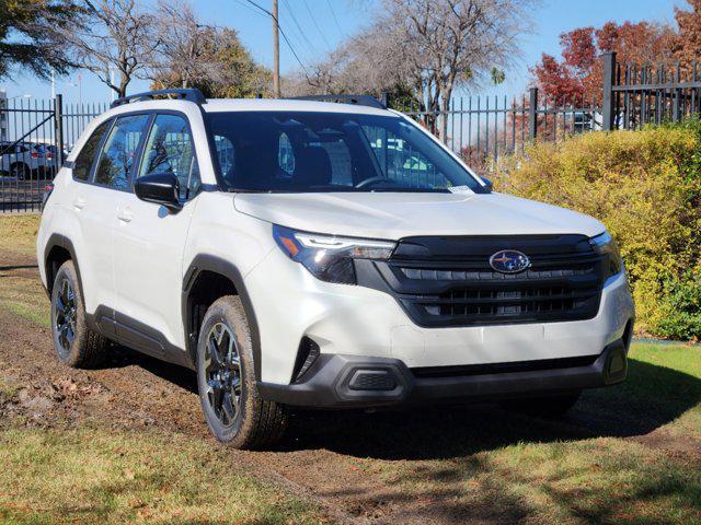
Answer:
[{"label": "brown bare dirt strip beneath and beside the SUV's left side", "polygon": [[[241,452],[215,442],[204,422],[192,371],[114,346],[101,370],[60,364],[50,332],[0,311],[0,375],[14,394],[0,402],[0,423],[71,428],[94,422],[138,430],[147,427],[208,440],[234,463],[288,491],[314,500],[342,523],[414,521],[412,506],[392,504],[398,489],[329,451]],[[304,424],[304,423],[299,423]],[[439,522],[435,522],[439,523]]]}]

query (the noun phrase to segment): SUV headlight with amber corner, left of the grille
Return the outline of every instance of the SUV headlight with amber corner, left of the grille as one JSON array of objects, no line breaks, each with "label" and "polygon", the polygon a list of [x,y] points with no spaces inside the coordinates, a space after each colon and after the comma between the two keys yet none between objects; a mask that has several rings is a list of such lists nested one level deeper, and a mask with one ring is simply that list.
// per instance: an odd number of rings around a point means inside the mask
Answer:
[{"label": "SUV headlight with amber corner, left of the grille", "polygon": [[273,237],[292,260],[326,282],[355,284],[354,259],[388,259],[397,243],[369,238],[336,237],[273,225]]}]

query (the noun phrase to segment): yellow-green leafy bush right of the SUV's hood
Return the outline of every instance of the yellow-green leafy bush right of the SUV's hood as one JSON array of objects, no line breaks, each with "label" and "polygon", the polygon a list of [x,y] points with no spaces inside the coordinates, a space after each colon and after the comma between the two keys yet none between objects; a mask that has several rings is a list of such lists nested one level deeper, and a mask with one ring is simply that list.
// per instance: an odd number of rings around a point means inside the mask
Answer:
[{"label": "yellow-green leafy bush right of the SUV's hood", "polygon": [[[602,221],[621,247],[637,327],[701,338],[701,125],[594,132],[501,159],[497,190]],[[679,314],[683,315],[679,315]]]}]

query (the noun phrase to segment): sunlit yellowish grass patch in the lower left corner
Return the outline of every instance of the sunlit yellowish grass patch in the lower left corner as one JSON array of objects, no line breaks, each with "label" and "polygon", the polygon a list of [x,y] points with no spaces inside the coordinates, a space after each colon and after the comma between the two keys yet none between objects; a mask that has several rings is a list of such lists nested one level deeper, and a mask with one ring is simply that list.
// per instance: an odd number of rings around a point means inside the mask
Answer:
[{"label": "sunlit yellowish grass patch in the lower left corner", "polygon": [[5,430],[0,522],[319,523],[308,503],[223,462],[221,448],[151,431]]}]

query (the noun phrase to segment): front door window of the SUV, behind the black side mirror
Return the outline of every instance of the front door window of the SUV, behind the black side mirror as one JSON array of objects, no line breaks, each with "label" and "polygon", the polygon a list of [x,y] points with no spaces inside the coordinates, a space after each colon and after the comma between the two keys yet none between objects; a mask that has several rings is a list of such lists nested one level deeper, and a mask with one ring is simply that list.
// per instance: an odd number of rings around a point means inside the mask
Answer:
[{"label": "front door window of the SUV, behind the black side mirror", "polygon": [[184,200],[196,195],[202,186],[193,139],[184,117],[159,115],[153,120],[139,177],[157,173],[175,175],[180,180],[180,198]]}]

